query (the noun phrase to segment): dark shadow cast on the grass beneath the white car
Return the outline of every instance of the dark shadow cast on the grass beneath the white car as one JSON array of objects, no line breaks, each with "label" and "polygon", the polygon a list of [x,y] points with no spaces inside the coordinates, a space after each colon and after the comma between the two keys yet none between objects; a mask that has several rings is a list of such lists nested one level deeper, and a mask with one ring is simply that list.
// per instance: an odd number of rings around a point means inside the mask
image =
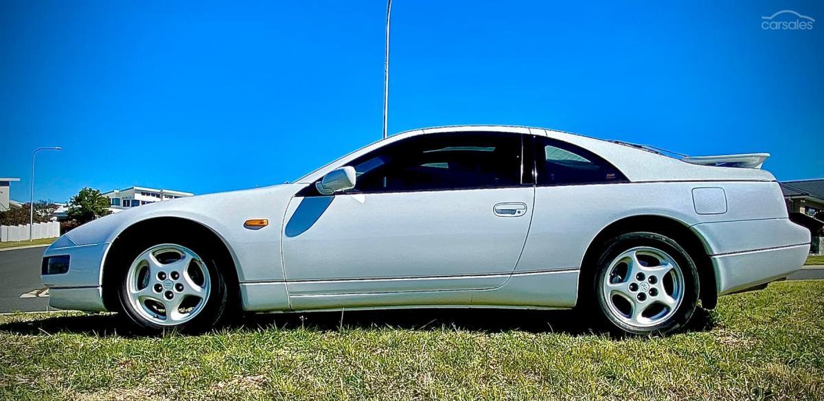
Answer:
[{"label": "dark shadow cast on the grass beneath the white car", "polygon": [[[716,325],[714,313],[699,308],[687,331],[709,331]],[[569,335],[606,334],[592,327],[591,316],[578,310],[507,309],[403,309],[344,310],[336,312],[247,314],[224,324],[218,330],[260,329],[343,329],[462,330],[480,333],[521,331],[527,333],[566,333]],[[133,329],[117,314],[53,316],[45,319],[0,324],[0,332],[46,336],[54,333],[80,333],[92,336],[138,337],[147,333]]]}]

